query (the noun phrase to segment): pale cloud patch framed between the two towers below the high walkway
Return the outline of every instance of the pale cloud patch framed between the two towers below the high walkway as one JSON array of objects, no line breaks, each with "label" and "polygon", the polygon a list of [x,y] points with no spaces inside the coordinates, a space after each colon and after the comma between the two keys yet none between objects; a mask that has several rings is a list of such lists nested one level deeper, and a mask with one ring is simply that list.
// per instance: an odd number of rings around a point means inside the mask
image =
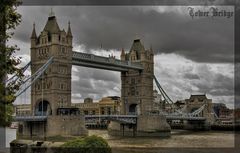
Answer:
[{"label": "pale cloud patch framed between the two towers below the high walkway", "polygon": [[[114,94],[120,96],[120,73],[106,70],[75,67],[78,72],[73,75],[79,77],[78,81],[72,81],[72,93],[81,94],[81,98],[91,97],[99,100],[104,96]],[[115,87],[118,87],[117,89]],[[113,95],[111,95],[113,96]],[[72,97],[79,99],[79,97]]]}]

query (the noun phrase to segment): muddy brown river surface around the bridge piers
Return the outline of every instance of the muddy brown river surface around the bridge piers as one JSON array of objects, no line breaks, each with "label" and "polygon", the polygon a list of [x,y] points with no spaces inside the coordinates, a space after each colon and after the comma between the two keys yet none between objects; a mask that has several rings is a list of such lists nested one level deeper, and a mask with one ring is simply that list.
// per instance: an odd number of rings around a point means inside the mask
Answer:
[{"label": "muddy brown river surface around the bridge piers", "polygon": [[[235,147],[235,133],[233,131],[172,130],[171,136],[168,138],[111,137],[107,130],[89,130],[89,135],[98,135],[106,139],[112,148],[112,153],[208,153],[211,152],[209,149],[214,149],[212,151],[214,153],[230,153],[232,152],[231,149]],[[16,129],[6,129],[6,145],[8,148],[9,142],[15,138]]]}]

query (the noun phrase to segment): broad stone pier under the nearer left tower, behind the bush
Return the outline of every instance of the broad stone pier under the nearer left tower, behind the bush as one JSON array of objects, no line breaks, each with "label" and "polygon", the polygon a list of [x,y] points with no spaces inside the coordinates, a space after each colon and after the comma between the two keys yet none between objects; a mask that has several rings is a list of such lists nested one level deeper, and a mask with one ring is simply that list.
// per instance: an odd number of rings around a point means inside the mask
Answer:
[{"label": "broad stone pier under the nearer left tower, behind the bush", "polygon": [[63,137],[88,135],[84,124],[84,116],[52,115],[41,121],[36,120],[34,117],[20,121],[18,129],[20,139],[46,140],[48,137],[58,135]]}]

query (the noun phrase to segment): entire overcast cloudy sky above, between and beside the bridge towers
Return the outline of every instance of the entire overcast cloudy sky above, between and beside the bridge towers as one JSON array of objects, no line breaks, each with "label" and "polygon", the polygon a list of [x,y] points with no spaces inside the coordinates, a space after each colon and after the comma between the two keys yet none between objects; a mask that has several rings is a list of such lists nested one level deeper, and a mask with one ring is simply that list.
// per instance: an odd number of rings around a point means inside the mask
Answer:
[{"label": "entire overcast cloudy sky above, between and beside the bridge towers", "polygon": [[[155,75],[174,100],[207,94],[215,103],[234,103],[234,17],[191,17],[188,6],[54,6],[61,29],[71,22],[74,50],[119,57],[129,51],[136,35],[155,53]],[[210,7],[193,7],[209,11]],[[218,7],[233,11],[233,7]],[[33,22],[43,30],[51,7],[21,6],[22,23],[11,43],[30,60]],[[102,48],[100,48],[102,46]],[[120,73],[72,68],[72,101],[120,96]],[[21,101],[21,100],[20,100]]]}]

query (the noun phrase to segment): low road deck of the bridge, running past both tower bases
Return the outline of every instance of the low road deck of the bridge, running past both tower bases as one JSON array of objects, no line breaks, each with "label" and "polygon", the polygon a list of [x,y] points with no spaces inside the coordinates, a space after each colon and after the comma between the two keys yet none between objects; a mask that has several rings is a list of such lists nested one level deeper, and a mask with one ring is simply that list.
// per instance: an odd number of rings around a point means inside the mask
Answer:
[{"label": "low road deck of the bridge, running past both tower bases", "polygon": [[[99,119],[117,121],[124,124],[136,124],[137,115],[85,115],[86,123],[97,122]],[[204,121],[205,117],[192,117],[192,116],[173,116],[167,115],[167,120],[195,120]],[[47,116],[15,116],[15,121],[46,121]]]}]

